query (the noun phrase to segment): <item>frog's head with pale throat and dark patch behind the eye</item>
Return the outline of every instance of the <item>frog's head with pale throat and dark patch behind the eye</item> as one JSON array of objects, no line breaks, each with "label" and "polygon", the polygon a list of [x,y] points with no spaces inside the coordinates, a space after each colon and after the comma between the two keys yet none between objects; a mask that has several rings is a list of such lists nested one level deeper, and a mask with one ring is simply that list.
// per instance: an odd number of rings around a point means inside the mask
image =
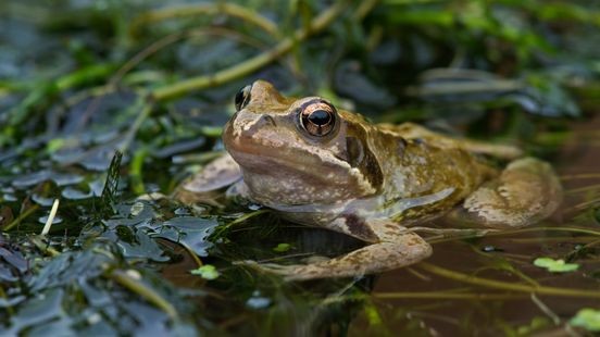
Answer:
[{"label": "frog's head with pale throat and dark patch behind the eye", "polygon": [[332,203],[380,189],[372,127],[360,115],[320,97],[283,97],[264,80],[242,88],[235,103],[223,140],[257,201]]}]

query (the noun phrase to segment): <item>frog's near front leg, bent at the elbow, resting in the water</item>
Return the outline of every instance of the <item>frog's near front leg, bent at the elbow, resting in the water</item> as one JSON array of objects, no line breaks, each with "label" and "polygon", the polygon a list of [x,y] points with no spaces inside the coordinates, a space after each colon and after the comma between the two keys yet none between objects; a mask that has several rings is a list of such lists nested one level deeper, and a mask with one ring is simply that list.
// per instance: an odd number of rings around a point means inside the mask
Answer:
[{"label": "frog's near front leg, bent at the elbow, resting in the water", "polygon": [[245,264],[284,275],[287,280],[303,280],[362,276],[390,271],[416,263],[432,254],[432,247],[423,238],[387,220],[363,221],[349,215],[336,219],[330,227],[336,232],[370,241],[371,245],[338,258],[310,264]]}]

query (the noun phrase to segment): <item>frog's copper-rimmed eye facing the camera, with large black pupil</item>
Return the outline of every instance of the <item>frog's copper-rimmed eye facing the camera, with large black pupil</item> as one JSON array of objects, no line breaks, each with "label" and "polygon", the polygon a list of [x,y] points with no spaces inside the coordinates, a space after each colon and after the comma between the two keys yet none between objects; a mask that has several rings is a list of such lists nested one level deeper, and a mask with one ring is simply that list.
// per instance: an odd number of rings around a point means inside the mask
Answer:
[{"label": "frog's copper-rimmed eye facing the camera, with large black pupil", "polygon": [[322,100],[309,102],[302,107],[300,124],[312,136],[326,136],[336,124],[336,109]]}]

